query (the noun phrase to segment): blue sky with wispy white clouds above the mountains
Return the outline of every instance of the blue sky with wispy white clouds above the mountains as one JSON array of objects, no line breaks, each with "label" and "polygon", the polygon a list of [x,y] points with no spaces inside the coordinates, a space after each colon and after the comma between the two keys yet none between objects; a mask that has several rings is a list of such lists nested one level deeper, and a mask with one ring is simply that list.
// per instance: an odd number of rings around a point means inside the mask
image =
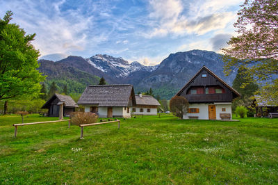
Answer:
[{"label": "blue sky with wispy white clouds above the mountains", "polygon": [[236,35],[234,22],[244,0],[0,0],[0,17],[36,33],[42,58],[70,55],[122,57],[156,65],[178,51],[220,53]]}]

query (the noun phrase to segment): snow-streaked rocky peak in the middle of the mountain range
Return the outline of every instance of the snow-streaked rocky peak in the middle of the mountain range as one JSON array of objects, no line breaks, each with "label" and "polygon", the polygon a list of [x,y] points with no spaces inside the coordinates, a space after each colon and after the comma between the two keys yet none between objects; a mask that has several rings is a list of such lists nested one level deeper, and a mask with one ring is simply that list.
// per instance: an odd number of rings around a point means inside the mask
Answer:
[{"label": "snow-streaked rocky peak in the middle of the mountain range", "polygon": [[129,64],[128,61],[124,61],[122,57],[115,58],[113,56],[109,55],[101,55],[97,54],[95,56],[92,56],[90,58],[85,58],[86,61],[93,67],[97,68],[101,72],[114,74],[115,77],[127,77],[132,72],[138,72],[138,71],[147,71],[152,72],[156,70],[158,65],[156,66],[145,66],[138,62],[133,62]]}]

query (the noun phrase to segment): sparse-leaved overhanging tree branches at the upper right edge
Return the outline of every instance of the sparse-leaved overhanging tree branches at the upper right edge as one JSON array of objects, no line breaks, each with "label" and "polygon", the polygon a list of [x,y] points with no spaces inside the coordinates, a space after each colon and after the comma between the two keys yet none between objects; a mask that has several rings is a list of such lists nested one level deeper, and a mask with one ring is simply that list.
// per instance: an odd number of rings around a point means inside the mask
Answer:
[{"label": "sparse-leaved overhanging tree branches at the upper right edge", "polygon": [[278,105],[278,1],[246,0],[238,15],[234,26],[239,34],[222,49],[224,71],[246,68],[247,79],[262,85],[258,93],[268,104]]}]

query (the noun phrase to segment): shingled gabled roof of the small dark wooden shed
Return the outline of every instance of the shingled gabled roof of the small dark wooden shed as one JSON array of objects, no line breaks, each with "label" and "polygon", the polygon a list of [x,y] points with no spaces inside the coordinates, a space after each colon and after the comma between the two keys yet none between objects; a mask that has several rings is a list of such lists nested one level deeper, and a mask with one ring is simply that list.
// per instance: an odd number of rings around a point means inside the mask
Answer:
[{"label": "shingled gabled roof of the small dark wooden shed", "polygon": [[76,102],[74,102],[74,99],[72,97],[67,95],[60,95],[60,94],[54,94],[47,102],[42,106],[42,108],[48,108],[54,99],[58,99],[57,105],[64,104],[64,106],[67,107],[78,107]]}]

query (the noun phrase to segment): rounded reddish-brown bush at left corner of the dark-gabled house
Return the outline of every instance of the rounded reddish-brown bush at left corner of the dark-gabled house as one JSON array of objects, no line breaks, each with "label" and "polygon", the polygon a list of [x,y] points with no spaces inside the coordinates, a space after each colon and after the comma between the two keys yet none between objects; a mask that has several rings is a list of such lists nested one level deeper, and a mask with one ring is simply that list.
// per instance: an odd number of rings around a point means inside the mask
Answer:
[{"label": "rounded reddish-brown bush at left corner of the dark-gabled house", "polygon": [[188,107],[189,103],[185,97],[174,96],[170,99],[170,111],[181,119],[187,113]]}]

